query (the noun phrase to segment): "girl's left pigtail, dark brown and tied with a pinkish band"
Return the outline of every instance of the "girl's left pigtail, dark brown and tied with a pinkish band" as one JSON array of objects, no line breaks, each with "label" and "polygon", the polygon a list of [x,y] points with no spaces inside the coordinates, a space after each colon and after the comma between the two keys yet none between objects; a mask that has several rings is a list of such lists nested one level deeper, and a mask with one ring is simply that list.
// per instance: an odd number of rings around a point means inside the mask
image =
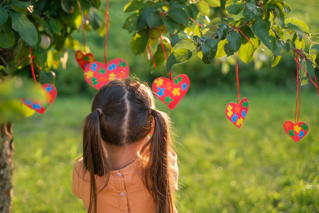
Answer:
[{"label": "girl's left pigtail, dark brown and tied with a pinkish band", "polygon": [[[110,177],[110,164],[104,152],[100,134],[100,121],[103,122],[104,114],[98,110],[91,112],[84,121],[83,127],[83,164],[85,172],[90,174],[90,204],[88,213],[97,212],[97,187],[95,175],[106,177],[106,187]],[[102,190],[103,190],[102,189]]]}]

